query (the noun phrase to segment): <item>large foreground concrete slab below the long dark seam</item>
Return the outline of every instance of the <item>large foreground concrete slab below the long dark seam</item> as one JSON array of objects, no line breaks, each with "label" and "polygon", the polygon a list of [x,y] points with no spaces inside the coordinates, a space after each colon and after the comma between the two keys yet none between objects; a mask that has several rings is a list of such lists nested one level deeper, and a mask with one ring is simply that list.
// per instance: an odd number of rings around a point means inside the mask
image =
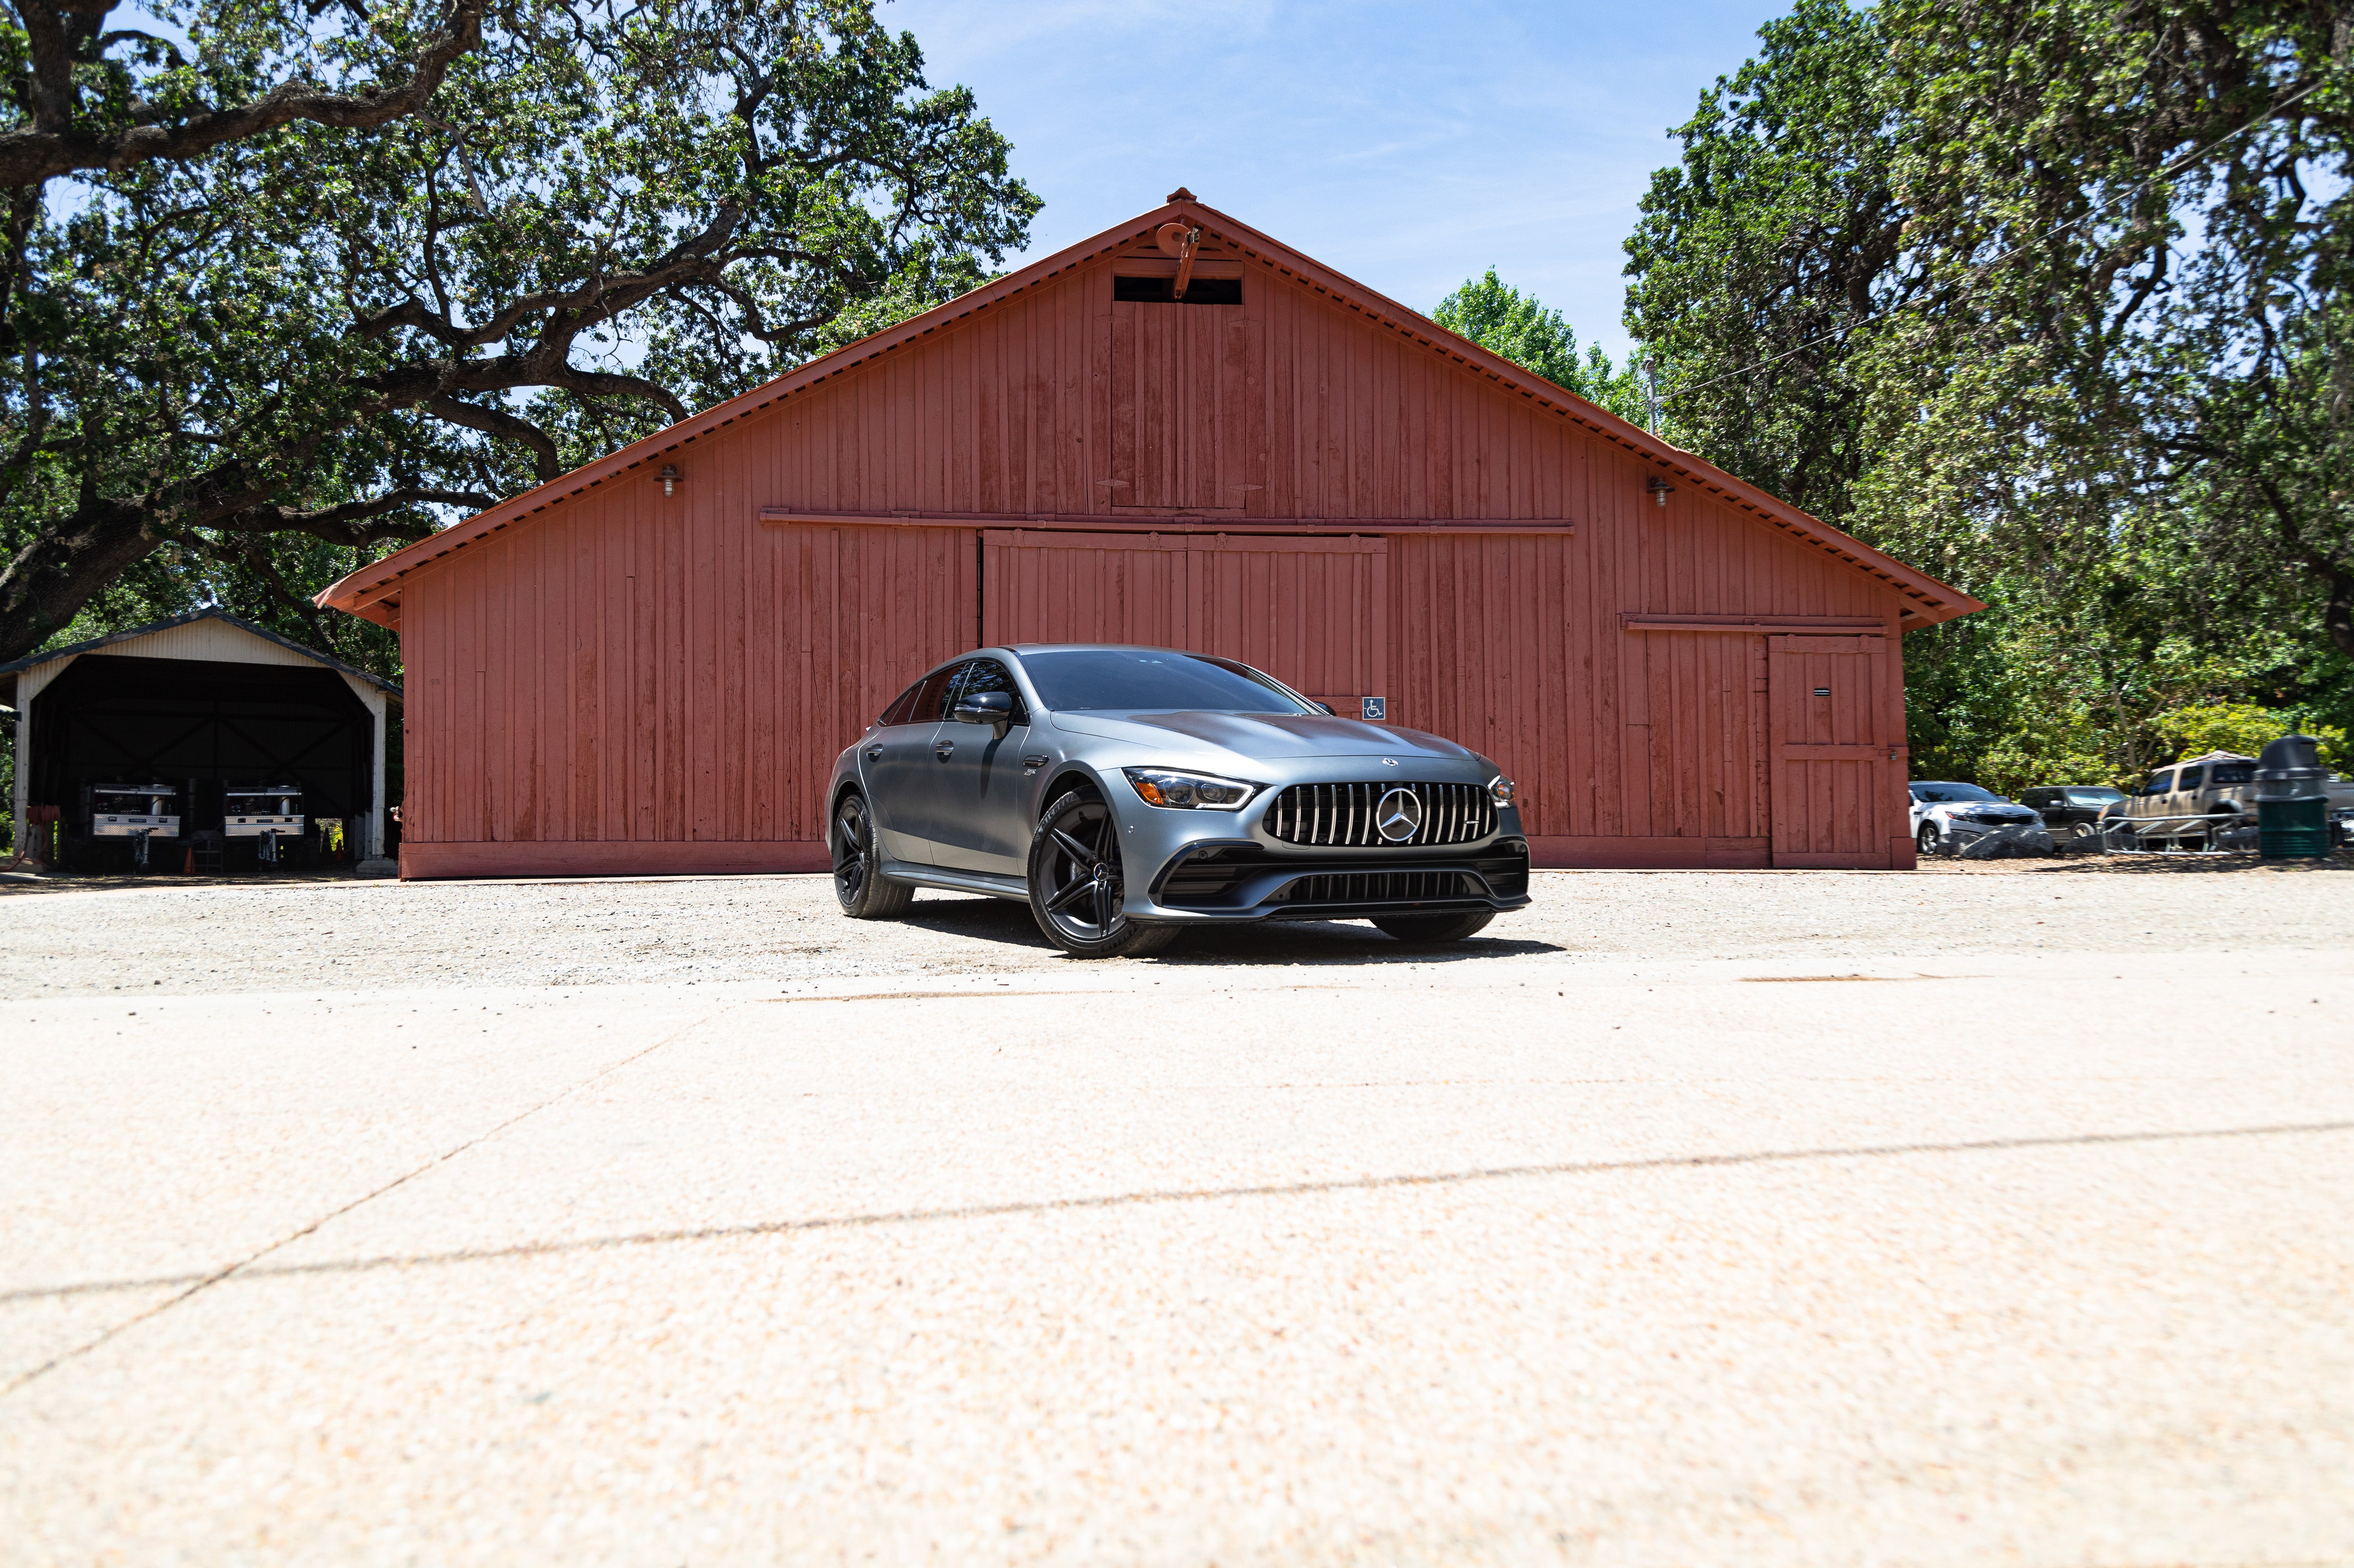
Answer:
[{"label": "large foreground concrete slab below the long dark seam", "polygon": [[266,1276],[19,1394],[0,1530],[28,1563],[2328,1561],[2349,1154],[1655,1168]]}]

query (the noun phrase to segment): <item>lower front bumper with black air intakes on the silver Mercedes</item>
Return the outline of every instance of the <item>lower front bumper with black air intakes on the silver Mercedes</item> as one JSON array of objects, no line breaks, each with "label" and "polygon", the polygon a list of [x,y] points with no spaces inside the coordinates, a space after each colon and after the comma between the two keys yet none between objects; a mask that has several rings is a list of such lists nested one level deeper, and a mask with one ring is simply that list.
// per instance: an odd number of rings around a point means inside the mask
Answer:
[{"label": "lower front bumper with black air intakes on the silver Mercedes", "polygon": [[1255,839],[1205,839],[1179,849],[1128,896],[1137,919],[1241,924],[1257,919],[1370,919],[1464,914],[1528,905],[1528,839],[1412,853],[1278,853]]}]

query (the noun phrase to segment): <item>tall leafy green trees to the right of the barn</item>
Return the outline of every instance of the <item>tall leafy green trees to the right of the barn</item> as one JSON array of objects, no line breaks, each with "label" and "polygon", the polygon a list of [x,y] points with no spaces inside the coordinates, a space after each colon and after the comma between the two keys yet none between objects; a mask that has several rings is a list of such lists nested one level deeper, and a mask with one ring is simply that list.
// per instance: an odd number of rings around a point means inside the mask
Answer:
[{"label": "tall leafy green trees to the right of the barn", "polygon": [[2170,715],[2354,719],[2319,16],[1801,0],[1678,129],[1627,242],[1678,440],[1994,607],[1907,639],[1921,773],[2116,783]]}]

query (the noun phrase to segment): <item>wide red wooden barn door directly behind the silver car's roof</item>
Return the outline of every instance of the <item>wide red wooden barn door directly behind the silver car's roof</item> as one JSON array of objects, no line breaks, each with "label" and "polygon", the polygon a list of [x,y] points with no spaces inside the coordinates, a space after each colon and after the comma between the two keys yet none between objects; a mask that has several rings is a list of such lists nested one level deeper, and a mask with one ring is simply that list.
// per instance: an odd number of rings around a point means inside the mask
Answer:
[{"label": "wide red wooden barn door directly behind the silver car's roof", "polygon": [[982,637],[1217,654],[1354,717],[1344,703],[1389,693],[1387,567],[1363,536],[991,529]]}]

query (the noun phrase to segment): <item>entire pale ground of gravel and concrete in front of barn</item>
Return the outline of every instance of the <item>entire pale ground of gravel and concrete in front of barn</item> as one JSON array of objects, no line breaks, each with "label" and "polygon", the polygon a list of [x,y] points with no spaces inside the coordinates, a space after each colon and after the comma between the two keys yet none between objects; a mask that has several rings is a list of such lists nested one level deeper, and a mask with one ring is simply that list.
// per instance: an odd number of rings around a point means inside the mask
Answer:
[{"label": "entire pale ground of gravel and concrete in front of barn", "polygon": [[2354,1563],[2354,877],[1490,931],[19,886],[0,1561]]}]

